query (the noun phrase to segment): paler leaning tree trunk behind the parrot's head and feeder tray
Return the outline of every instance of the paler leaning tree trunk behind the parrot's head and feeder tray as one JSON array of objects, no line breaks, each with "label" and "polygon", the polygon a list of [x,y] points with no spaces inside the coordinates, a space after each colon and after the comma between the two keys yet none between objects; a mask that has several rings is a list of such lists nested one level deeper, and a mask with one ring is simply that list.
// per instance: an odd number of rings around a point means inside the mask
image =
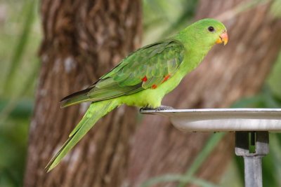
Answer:
[{"label": "paler leaning tree trunk behind the parrot's head and feeder tray", "polygon": [[[215,46],[204,62],[192,71],[164,105],[176,108],[221,108],[259,92],[281,46],[281,22],[270,15],[270,3],[244,11],[234,18],[231,8],[244,1],[200,1],[196,20],[221,18],[228,28],[227,46]],[[228,11],[225,14],[225,11]],[[230,16],[231,17],[231,16]],[[226,19],[226,20],[224,20]],[[145,116],[136,131],[130,161],[129,186],[162,174],[183,174],[206,144],[209,133],[183,134],[169,121]],[[233,134],[226,136],[204,162],[197,175],[218,181],[234,155]],[[159,186],[175,186],[162,183]]]}]

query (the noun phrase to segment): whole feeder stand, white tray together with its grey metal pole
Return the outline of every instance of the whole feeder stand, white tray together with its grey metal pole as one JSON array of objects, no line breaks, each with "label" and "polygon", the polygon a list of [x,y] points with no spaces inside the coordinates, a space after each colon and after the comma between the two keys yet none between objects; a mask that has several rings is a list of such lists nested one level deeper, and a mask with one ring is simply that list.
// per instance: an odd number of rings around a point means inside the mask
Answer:
[{"label": "whole feeder stand, white tray together with its grey metal pole", "polygon": [[[186,132],[235,132],[235,154],[244,158],[245,187],[262,187],[262,158],[269,152],[268,132],[281,131],[281,109],[141,110],[170,118]],[[251,149],[253,147],[253,149]]]}]

